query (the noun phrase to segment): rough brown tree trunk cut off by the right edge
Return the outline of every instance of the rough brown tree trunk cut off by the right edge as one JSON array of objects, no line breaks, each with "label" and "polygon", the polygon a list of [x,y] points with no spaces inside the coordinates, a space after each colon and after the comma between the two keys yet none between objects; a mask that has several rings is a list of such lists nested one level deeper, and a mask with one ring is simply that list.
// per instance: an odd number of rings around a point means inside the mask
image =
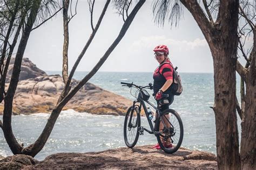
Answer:
[{"label": "rough brown tree trunk cut off by the right edge", "polygon": [[256,27],[252,57],[246,79],[244,119],[241,123],[241,169],[256,168]]}]

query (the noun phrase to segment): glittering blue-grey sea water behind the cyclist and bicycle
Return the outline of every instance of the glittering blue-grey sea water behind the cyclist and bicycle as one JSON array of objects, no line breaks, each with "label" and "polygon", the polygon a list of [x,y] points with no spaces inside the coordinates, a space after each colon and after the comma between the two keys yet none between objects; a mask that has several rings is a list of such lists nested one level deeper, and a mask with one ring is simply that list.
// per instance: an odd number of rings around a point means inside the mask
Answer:
[{"label": "glittering blue-grey sea water behind the cyclist and bicycle", "polygon": [[[49,71],[48,74],[61,74]],[[77,72],[75,79],[82,79],[87,72]],[[184,125],[184,139],[181,146],[216,153],[213,73],[180,73],[184,91],[174,98],[170,106],[176,110]],[[134,100],[134,90],[124,87],[120,82],[148,85],[152,82],[152,73],[147,72],[97,72],[90,79],[93,83],[107,91],[114,92]],[[147,90],[152,94],[151,90]],[[79,92],[78,92],[79,93]],[[150,101],[154,103],[153,97]],[[48,113],[16,115],[12,117],[12,128],[18,142],[24,147],[33,143],[41,134]],[[239,119],[239,118],[238,118]],[[94,152],[110,148],[125,147],[123,139],[124,116],[93,115],[78,113],[73,110],[62,111],[56,125],[36,159],[59,152]],[[145,117],[142,126],[150,129]],[[154,135],[144,132],[137,145],[156,144]],[[6,144],[3,132],[0,131],[0,155],[12,155]]]}]

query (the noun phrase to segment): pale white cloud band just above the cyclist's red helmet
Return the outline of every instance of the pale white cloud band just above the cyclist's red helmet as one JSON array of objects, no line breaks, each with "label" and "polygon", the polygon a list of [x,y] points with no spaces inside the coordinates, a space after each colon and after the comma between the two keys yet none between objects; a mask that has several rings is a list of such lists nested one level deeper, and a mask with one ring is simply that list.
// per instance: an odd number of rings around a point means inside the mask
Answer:
[{"label": "pale white cloud band just above the cyclist's red helmet", "polygon": [[167,46],[177,46],[184,49],[195,49],[197,47],[207,46],[205,39],[194,39],[193,41],[188,40],[176,40],[171,38],[166,38],[165,36],[148,36],[140,37],[140,39],[132,43],[133,49],[149,47],[152,48],[157,44],[165,44]]}]

